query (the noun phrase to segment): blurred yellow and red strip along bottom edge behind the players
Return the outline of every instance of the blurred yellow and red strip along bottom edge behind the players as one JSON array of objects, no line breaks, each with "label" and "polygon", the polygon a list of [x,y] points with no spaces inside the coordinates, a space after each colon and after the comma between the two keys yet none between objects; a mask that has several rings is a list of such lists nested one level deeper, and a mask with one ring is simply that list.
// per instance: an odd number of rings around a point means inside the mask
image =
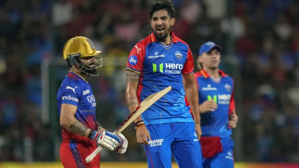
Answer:
[{"label": "blurred yellow and red strip along bottom edge behind the players", "polygon": [[[63,168],[59,162],[55,163],[16,163],[16,162],[2,162],[0,168]],[[148,168],[147,163],[144,162],[103,162],[101,168]],[[172,168],[178,168],[173,163]],[[286,163],[236,163],[235,168],[299,168],[299,164],[286,164]]]}]

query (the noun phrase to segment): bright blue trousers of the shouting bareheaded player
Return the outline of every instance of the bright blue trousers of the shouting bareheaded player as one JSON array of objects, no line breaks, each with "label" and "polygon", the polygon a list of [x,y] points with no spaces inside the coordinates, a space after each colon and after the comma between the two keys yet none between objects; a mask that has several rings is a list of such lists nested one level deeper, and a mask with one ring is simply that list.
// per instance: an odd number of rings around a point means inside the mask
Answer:
[{"label": "bright blue trousers of the shouting bareheaded player", "polygon": [[171,168],[171,154],[179,168],[202,168],[194,122],[147,125],[151,141],[145,145],[149,168]]}]

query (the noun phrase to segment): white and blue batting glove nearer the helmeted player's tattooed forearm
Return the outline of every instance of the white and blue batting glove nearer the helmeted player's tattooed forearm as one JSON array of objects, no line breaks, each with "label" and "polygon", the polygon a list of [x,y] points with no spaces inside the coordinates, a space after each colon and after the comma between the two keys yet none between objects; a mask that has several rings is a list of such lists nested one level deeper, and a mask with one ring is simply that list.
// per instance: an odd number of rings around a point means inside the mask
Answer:
[{"label": "white and blue batting glove nearer the helmeted player's tattooed forearm", "polygon": [[108,148],[110,151],[114,151],[119,146],[119,142],[121,142],[118,136],[113,135],[109,131],[103,131],[102,133],[94,131],[91,139]]}]

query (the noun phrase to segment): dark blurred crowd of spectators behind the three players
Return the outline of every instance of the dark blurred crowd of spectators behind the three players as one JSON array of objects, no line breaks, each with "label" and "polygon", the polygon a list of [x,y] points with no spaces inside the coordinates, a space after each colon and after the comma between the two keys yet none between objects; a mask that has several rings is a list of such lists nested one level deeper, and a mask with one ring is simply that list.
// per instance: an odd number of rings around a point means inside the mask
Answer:
[{"label": "dark blurred crowd of spectators behind the three players", "polygon": [[[41,63],[62,59],[74,36],[90,38],[103,52],[100,77],[89,78],[99,122],[109,131],[123,122],[127,57],[151,33],[153,1],[0,0],[0,162],[59,160],[60,132],[41,120]],[[172,31],[189,44],[194,60],[203,42],[214,41],[223,47],[223,70],[239,72],[228,72],[241,104],[244,157],[236,161],[299,162],[299,1],[172,1]],[[102,161],[146,160],[133,126],[124,135],[127,153],[103,150]]]}]

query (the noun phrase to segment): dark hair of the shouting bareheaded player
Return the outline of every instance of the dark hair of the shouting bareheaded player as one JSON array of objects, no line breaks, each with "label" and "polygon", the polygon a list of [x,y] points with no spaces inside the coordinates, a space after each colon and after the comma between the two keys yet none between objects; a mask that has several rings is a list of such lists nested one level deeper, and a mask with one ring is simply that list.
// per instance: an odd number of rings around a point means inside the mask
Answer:
[{"label": "dark hair of the shouting bareheaded player", "polygon": [[154,12],[158,10],[166,10],[170,18],[174,18],[174,5],[170,0],[158,0],[154,2],[149,8],[149,19],[151,19]]}]

